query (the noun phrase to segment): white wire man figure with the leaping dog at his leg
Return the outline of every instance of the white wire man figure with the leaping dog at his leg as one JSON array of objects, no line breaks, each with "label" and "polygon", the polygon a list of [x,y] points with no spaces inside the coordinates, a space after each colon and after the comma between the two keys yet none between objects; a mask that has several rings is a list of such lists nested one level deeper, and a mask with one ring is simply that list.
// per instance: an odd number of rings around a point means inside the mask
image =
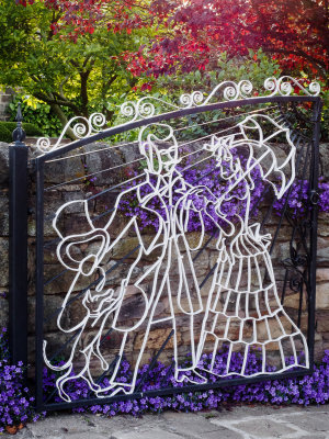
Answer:
[{"label": "white wire man figure with the leaping dog at his leg", "polygon": [[[196,382],[205,381],[197,371],[193,372],[196,365],[195,339],[198,340],[201,335],[200,327],[194,325],[194,317],[203,312],[203,305],[191,252],[202,246],[205,234],[202,211],[206,211],[211,200],[214,203],[215,198],[207,188],[186,183],[182,175],[177,170],[180,158],[172,128],[162,124],[157,124],[155,127],[168,130],[168,136],[160,139],[150,133],[144,140],[143,136],[149,127],[141,130],[139,149],[147,162],[145,180],[133,188],[124,190],[117,196],[114,212],[103,228],[97,228],[93,225],[87,201],[66,203],[57,211],[53,222],[54,228],[61,238],[57,247],[57,257],[68,270],[76,272],[58,315],[57,325],[60,330],[67,334],[80,331],[71,346],[69,359],[63,365],[55,367],[49,362],[46,356],[46,341],[44,342],[46,364],[53,370],[65,371],[57,379],[56,384],[60,397],[66,401],[70,401],[70,397],[65,391],[65,385],[68,381],[77,378],[86,380],[98,397],[107,396],[109,392],[111,395],[115,395],[118,392],[134,392],[138,367],[144,356],[149,331],[154,325],[164,322],[168,322],[170,327],[174,329],[173,350],[177,380],[183,381],[186,379],[194,382],[196,378]],[[161,149],[159,144],[163,142],[164,148]],[[171,143],[171,146],[168,147],[168,143]],[[148,191],[145,191],[146,188]],[[175,202],[173,201],[174,191],[180,193]],[[120,203],[125,196],[132,194],[138,201],[139,214],[144,211],[147,215],[155,215],[158,221],[157,233],[150,243],[146,241],[140,234],[137,215],[129,218],[115,238],[110,237],[109,229],[116,219]],[[157,207],[155,207],[155,204]],[[65,212],[80,212],[81,205],[87,222],[86,230],[82,234],[63,236],[58,226],[61,215]],[[162,211],[161,214],[159,214],[159,210]],[[200,239],[194,247],[186,239],[190,212],[192,211],[198,213],[202,224]],[[213,219],[211,215],[209,218]],[[216,226],[215,223],[214,226]],[[102,264],[105,259],[111,258],[114,247],[120,246],[124,237],[131,233],[134,233],[138,238],[138,252],[122,280],[120,289],[106,288],[106,274]],[[99,244],[93,246],[92,251],[88,252],[84,258],[81,259],[80,257],[77,260],[73,252],[75,245],[89,245],[92,241],[98,241]],[[157,252],[156,257],[152,258],[155,261],[146,268],[137,280],[133,281],[134,269],[140,264],[143,258],[150,257],[155,252]],[[170,279],[172,270],[178,271],[179,278],[174,284]],[[95,271],[100,272],[101,281],[97,286],[89,288],[82,296],[81,302],[84,314],[81,316],[81,320],[75,325],[67,326],[65,312],[71,303],[72,293],[77,291],[77,285],[81,282],[81,279],[90,278]],[[141,302],[139,308],[143,309],[141,315],[137,319],[135,318],[134,322],[129,322],[125,315],[132,296],[132,288],[133,294],[138,294]],[[169,303],[169,312],[164,316],[157,317],[157,307],[161,306],[163,302]],[[183,364],[184,361],[180,359],[178,352],[177,337],[180,328],[177,322],[177,318],[179,318],[177,311],[180,314],[184,314],[189,322],[190,330],[185,339],[185,344],[189,345],[189,350],[192,354],[192,365],[189,367]],[[92,360],[93,362],[98,361],[104,371],[109,368],[109,361],[105,360],[100,349],[102,334],[109,329],[109,325],[112,328],[111,337],[120,335],[121,341],[114,370],[109,376],[109,384],[100,386],[93,379],[91,362]],[[134,334],[139,334],[141,326],[144,336],[138,357],[134,363],[133,378],[129,383],[123,383],[117,378],[124,360],[127,340],[128,337],[134,337]],[[87,346],[81,349],[79,342],[87,330],[92,331],[93,335]],[[77,358],[80,358],[80,367],[77,364]],[[185,373],[186,371],[190,371],[189,374]]]}]

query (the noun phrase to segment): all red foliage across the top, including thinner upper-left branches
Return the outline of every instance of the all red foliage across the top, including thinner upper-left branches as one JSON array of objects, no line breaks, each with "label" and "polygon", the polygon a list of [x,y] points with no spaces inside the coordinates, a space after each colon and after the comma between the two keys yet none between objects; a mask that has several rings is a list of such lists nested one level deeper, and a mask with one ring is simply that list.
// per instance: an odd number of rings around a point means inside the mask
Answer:
[{"label": "all red foliage across the top, including thinner upper-left branches", "polygon": [[[26,4],[26,0],[18,1]],[[150,45],[123,54],[136,76],[145,71],[157,77],[177,69],[212,68],[219,53],[246,55],[248,48],[262,48],[290,70],[309,69],[324,78],[328,68],[328,0],[44,0],[44,3],[60,13],[52,31],[68,27],[73,40],[79,34],[92,34],[99,25],[128,33],[158,25],[158,35],[151,36]]]}]

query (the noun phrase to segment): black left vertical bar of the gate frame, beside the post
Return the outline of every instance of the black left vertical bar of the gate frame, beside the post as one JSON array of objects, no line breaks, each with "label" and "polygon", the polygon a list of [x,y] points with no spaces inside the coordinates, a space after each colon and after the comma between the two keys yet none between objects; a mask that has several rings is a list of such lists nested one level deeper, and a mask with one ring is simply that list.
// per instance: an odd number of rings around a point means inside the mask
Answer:
[{"label": "black left vertical bar of the gate frame, beside the post", "polygon": [[44,162],[36,159],[35,405],[43,408]]}]

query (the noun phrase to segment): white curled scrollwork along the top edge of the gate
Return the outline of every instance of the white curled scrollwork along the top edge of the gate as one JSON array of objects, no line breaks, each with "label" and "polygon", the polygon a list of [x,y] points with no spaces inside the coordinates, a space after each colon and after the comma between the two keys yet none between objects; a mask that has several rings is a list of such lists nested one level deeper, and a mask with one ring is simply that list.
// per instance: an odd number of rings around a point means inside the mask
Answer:
[{"label": "white curled scrollwork along the top edge of the gate", "polygon": [[[249,80],[241,80],[238,83],[234,81],[223,81],[214,90],[205,95],[202,91],[194,91],[191,94],[184,93],[180,97],[180,103],[174,104],[162,99],[154,97],[144,97],[138,101],[127,101],[121,106],[121,115],[127,117],[128,122],[152,117],[156,114],[162,114],[166,111],[190,109],[198,105],[206,105],[215,102],[236,101],[239,99],[261,98],[283,95],[287,97],[294,93],[295,89],[305,95],[316,97],[320,93],[320,85],[311,82],[308,88],[303,86],[303,80],[297,80],[288,76],[281,78],[268,78],[264,81],[265,93],[252,94],[253,86]],[[270,94],[268,93],[270,92]],[[64,127],[58,140],[52,145],[50,139],[42,137],[36,143],[36,148],[41,153],[58,149],[61,146],[64,136],[68,130],[72,130],[77,138],[84,138],[91,134],[104,130],[106,119],[101,113],[93,113],[89,119],[82,116],[72,117]]]}]

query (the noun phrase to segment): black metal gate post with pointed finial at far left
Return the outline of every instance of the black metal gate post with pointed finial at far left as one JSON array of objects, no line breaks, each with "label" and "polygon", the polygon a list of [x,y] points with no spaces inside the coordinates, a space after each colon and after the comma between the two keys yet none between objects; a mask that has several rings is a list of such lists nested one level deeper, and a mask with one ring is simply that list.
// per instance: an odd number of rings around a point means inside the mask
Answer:
[{"label": "black metal gate post with pointed finial at far left", "polygon": [[27,146],[19,104],[9,150],[9,348],[13,363],[27,364]]}]

